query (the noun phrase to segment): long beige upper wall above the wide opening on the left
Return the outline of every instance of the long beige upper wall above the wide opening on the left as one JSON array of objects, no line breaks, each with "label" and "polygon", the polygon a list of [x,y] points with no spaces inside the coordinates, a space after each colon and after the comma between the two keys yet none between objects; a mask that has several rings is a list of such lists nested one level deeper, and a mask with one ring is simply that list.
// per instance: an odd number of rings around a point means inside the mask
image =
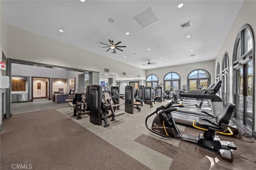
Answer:
[{"label": "long beige upper wall above the wide opening on the left", "polygon": [[[146,71],[120,61],[116,61],[84,49],[80,49],[50,38],[8,25],[8,57],[25,61],[34,61],[51,65],[104,72],[127,77],[145,79]],[[108,65],[106,65],[108,63]],[[110,64],[111,63],[111,64]]]}]

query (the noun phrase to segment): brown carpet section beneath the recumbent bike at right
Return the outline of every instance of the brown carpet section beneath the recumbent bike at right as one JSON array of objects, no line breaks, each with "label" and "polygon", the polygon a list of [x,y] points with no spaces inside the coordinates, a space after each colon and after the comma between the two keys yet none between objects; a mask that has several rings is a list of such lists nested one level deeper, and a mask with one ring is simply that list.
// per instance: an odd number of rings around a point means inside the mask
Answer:
[{"label": "brown carpet section beneath the recumbent bike at right", "polygon": [[[184,134],[197,135],[202,130],[186,127]],[[222,160],[216,152],[212,152],[195,144],[181,141],[179,146],[173,146],[156,138],[142,134],[136,138],[136,142],[143,144],[157,152],[172,158],[170,169],[182,170],[255,170],[256,169],[256,143],[248,143],[238,140],[236,137],[218,135],[221,140],[232,141],[237,146],[233,150],[233,162]],[[240,135],[238,135],[240,136]],[[251,141],[246,137],[242,140]],[[254,140],[255,141],[255,140]]]}]

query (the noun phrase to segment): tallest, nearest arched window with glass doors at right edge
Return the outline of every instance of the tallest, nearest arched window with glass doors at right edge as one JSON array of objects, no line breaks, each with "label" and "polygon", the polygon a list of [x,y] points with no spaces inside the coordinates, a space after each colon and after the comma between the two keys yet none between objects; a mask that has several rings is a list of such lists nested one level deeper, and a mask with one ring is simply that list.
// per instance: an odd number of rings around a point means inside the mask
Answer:
[{"label": "tallest, nearest arched window with glass doors at right edge", "polygon": [[240,28],[233,51],[234,117],[252,134],[254,118],[254,36],[249,25]]}]

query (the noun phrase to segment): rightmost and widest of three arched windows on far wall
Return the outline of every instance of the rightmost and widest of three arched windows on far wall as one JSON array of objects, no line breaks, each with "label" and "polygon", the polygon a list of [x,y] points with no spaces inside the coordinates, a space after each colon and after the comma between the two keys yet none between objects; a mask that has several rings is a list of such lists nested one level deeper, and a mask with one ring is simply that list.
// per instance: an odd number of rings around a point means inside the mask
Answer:
[{"label": "rightmost and widest of three arched windows on far wall", "polygon": [[188,88],[198,90],[199,85],[207,88],[210,85],[210,73],[203,69],[196,69],[188,74]]}]

